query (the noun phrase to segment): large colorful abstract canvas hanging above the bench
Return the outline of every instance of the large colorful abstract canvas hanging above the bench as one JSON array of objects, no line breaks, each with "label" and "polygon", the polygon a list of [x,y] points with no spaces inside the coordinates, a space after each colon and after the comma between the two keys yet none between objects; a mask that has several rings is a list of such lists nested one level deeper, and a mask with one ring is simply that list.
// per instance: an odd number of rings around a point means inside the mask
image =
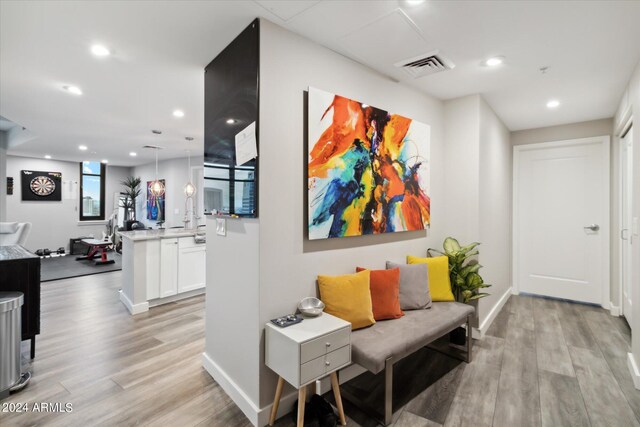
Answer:
[{"label": "large colorful abstract canvas hanging above the bench", "polygon": [[309,239],[424,230],[430,127],[309,88]]}]

